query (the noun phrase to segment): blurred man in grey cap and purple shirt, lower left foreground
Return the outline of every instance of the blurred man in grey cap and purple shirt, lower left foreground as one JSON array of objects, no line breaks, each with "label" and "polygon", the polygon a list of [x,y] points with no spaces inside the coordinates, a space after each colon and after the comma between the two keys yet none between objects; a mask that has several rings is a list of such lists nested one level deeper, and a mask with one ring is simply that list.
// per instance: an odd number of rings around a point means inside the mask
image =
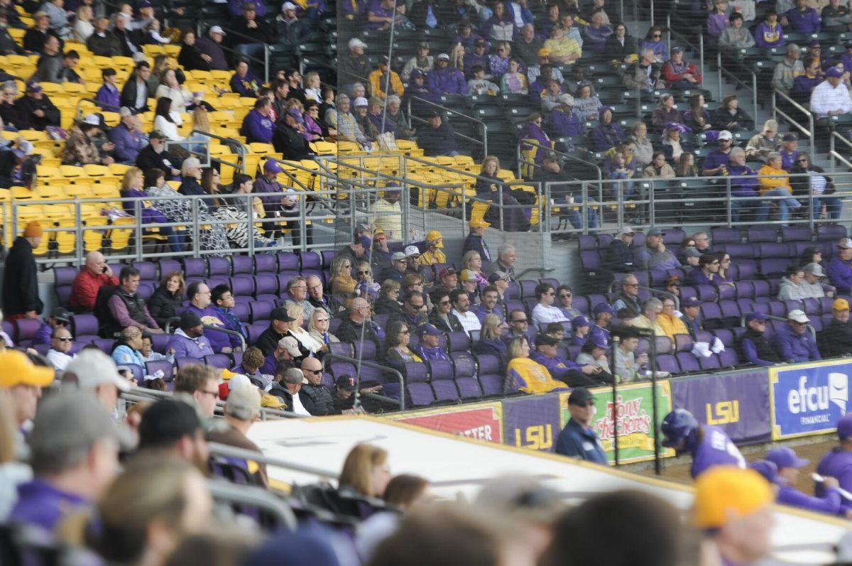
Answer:
[{"label": "blurred man in grey cap and purple shirt, lower left foreground", "polygon": [[121,441],[95,396],[71,390],[45,399],[29,436],[34,478],[18,487],[9,522],[52,534],[63,518],[92,505],[110,485]]}]

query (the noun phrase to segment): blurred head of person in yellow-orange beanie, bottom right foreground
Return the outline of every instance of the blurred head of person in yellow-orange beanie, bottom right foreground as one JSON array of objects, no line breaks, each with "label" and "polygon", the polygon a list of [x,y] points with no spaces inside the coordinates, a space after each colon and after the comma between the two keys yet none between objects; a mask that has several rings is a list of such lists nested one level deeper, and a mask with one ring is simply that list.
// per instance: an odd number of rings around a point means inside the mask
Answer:
[{"label": "blurred head of person in yellow-orange beanie, bottom right foreground", "polygon": [[769,554],[774,500],[757,471],[713,468],[695,482],[693,523],[704,529],[722,564],[746,566]]}]

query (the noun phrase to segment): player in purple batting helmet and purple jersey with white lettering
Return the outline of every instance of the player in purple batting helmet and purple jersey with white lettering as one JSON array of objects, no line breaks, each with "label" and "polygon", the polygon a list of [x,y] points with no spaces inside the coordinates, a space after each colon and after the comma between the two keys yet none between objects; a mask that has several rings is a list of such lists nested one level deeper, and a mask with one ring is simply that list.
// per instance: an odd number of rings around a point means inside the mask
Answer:
[{"label": "player in purple batting helmet and purple jersey with white lettering", "polygon": [[665,415],[660,430],[665,436],[665,448],[674,448],[677,456],[690,453],[693,479],[717,465],[746,467],[746,459],[731,442],[724,430],[712,425],[699,425],[692,413],[686,409],[675,409]]}]

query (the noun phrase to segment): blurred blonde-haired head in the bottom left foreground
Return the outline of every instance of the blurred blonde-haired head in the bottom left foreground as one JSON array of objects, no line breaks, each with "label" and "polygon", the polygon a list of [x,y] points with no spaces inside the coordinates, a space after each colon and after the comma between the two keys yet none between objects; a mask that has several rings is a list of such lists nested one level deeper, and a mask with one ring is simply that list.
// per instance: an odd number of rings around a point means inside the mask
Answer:
[{"label": "blurred blonde-haired head in the bottom left foreground", "polygon": [[131,459],[91,517],[69,517],[66,542],[88,546],[105,563],[160,564],[207,525],[213,501],[204,476],[182,459]]}]

